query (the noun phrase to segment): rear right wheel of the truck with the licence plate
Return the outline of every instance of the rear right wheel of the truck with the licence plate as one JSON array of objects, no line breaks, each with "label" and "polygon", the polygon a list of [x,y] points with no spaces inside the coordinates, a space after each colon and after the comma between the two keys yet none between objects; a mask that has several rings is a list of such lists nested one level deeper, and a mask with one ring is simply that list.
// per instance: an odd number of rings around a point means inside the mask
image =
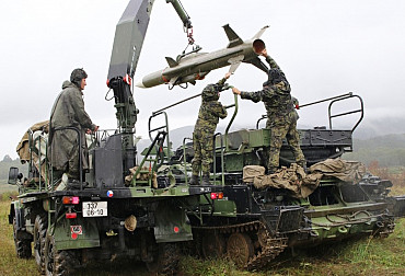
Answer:
[{"label": "rear right wheel of the truck with the licence plate", "polygon": [[153,252],[153,261],[147,263],[150,273],[175,275],[178,267],[180,250],[175,243],[159,243]]}]

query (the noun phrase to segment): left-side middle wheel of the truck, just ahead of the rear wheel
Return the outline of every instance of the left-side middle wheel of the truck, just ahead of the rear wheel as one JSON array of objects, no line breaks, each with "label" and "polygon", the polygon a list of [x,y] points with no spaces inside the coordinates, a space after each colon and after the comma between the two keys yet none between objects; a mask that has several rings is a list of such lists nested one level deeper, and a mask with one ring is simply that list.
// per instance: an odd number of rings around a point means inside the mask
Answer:
[{"label": "left-side middle wheel of the truck, just ahead of the rear wheel", "polygon": [[37,215],[34,222],[34,256],[38,271],[42,274],[45,274],[45,238],[47,227],[46,217]]}]

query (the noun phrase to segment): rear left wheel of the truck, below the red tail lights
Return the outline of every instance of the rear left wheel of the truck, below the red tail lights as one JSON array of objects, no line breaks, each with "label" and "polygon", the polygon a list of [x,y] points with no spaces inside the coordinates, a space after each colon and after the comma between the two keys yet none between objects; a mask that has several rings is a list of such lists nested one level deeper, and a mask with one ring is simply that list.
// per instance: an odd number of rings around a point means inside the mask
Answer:
[{"label": "rear left wheel of the truck, below the red tail lights", "polygon": [[65,276],[71,275],[79,261],[73,250],[57,250],[54,235],[46,235],[45,239],[45,274]]}]

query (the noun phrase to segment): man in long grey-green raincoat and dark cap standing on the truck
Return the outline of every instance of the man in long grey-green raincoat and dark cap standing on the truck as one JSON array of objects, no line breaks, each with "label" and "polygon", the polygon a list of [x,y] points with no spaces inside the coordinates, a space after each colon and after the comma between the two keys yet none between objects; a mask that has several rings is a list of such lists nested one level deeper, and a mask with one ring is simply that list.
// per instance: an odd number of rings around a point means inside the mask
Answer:
[{"label": "man in long grey-green raincoat and dark cap standing on the truck", "polygon": [[[79,181],[80,170],[89,169],[85,133],[96,131],[99,126],[92,123],[84,111],[82,95],[86,78],[88,74],[83,69],[74,69],[70,81],[63,82],[62,92],[56,99],[50,113],[49,160],[54,168],[54,181],[60,179],[65,172],[69,182]],[[57,130],[66,127],[74,127],[80,133],[82,168],[79,168],[78,133],[73,129]]]}]

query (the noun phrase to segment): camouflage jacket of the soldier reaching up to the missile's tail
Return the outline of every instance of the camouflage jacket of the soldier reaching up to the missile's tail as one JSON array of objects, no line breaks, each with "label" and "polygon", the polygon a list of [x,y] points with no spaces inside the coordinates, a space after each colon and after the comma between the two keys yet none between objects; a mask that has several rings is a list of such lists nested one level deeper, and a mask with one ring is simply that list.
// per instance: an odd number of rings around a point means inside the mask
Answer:
[{"label": "camouflage jacket of the soldier reaching up to the missile's tail", "polygon": [[[269,64],[270,68],[279,68],[276,61],[267,56],[266,61]],[[281,71],[284,74],[284,72]],[[291,101],[291,88],[287,81],[280,81],[277,84],[264,87],[263,90],[257,92],[241,92],[241,97],[251,100],[255,103],[264,102],[267,117],[271,120],[276,117],[285,117],[290,112],[293,111]]]}]

